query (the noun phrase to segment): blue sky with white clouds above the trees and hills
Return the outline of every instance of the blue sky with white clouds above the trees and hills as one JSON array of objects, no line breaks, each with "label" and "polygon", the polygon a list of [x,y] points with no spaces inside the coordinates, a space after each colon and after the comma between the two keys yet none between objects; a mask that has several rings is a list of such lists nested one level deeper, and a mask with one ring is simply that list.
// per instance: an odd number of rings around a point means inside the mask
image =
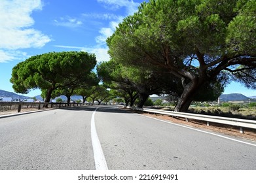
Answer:
[{"label": "blue sky with white clouds above the trees and hills", "polygon": [[[0,90],[14,92],[12,67],[46,52],[85,51],[108,61],[105,40],[143,0],[0,0]],[[255,96],[232,82],[224,94]],[[19,93],[20,94],[20,93]],[[40,95],[32,90],[29,97]]]}]

